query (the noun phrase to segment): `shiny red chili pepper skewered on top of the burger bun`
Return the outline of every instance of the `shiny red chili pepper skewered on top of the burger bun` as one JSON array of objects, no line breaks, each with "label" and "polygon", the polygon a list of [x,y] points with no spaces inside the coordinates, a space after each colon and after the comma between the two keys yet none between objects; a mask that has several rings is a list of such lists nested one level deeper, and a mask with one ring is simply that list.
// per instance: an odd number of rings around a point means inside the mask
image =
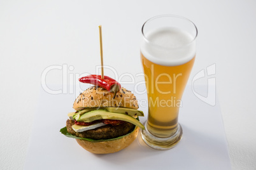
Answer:
[{"label": "shiny red chili pepper skewered on top of the burger bun", "polygon": [[[115,81],[115,79],[112,79],[106,75],[104,75],[104,79],[101,79],[101,75],[87,75],[85,77],[81,77],[78,80],[80,82],[100,86],[101,88],[110,91],[110,93],[115,93],[115,95],[117,95],[117,92],[121,89],[121,84],[119,82]],[[115,95],[113,98],[115,98]]]}]

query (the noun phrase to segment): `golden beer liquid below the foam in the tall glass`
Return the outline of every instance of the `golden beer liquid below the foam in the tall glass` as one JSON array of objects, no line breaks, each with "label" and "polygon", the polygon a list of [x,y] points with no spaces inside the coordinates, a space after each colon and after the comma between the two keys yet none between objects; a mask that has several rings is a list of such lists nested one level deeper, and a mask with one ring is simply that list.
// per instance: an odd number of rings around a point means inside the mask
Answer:
[{"label": "golden beer liquid below the foam in the tall glass", "polygon": [[176,132],[181,97],[193,67],[195,57],[187,63],[164,66],[153,62],[141,53],[141,62],[148,82],[148,131],[159,138]]}]

